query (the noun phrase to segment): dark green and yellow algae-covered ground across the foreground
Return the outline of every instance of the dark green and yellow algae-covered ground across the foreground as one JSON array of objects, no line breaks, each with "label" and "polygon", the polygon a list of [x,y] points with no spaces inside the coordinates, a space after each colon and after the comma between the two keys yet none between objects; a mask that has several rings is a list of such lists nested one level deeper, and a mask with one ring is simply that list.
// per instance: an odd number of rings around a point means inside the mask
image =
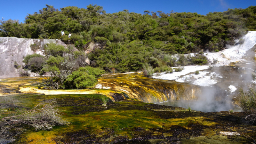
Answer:
[{"label": "dark green and yellow algae-covered ground across the foreground", "polygon": [[[256,126],[243,113],[188,111],[134,100],[102,106],[100,94],[16,95],[21,107],[57,98],[55,104],[69,125],[51,131],[28,128],[14,143],[255,143]],[[233,134],[232,134],[233,132]],[[230,134],[231,133],[231,134]]]}]

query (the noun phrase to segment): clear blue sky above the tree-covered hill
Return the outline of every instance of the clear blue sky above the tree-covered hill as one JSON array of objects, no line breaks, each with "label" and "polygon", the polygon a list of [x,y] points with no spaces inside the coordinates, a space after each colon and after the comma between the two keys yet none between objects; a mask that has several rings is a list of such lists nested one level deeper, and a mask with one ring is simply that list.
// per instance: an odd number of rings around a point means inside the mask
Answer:
[{"label": "clear blue sky above the tree-covered hill", "polygon": [[45,4],[55,8],[77,6],[86,8],[89,4],[103,6],[107,13],[128,9],[129,12],[143,13],[148,11],[197,12],[206,15],[208,12],[223,12],[228,8],[247,8],[255,6],[256,0],[2,0],[0,17],[4,20],[20,20],[23,22],[27,13],[33,14],[45,7]]}]

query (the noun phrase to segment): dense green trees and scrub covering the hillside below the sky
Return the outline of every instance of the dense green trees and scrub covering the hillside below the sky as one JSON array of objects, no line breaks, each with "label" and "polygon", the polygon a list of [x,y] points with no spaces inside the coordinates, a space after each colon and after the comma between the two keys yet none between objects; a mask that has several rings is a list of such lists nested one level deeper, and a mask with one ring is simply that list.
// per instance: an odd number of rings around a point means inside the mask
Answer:
[{"label": "dense green trees and scrub covering the hillside below the sky", "polygon": [[[256,30],[256,6],[209,12],[205,16],[162,11],[139,14],[128,10],[111,14],[92,4],[60,10],[46,5],[39,12],[28,14],[24,23],[2,21],[0,29],[0,36],[62,39],[80,51],[85,51],[90,43],[98,43],[99,48],[89,55],[90,66],[107,72],[127,72],[141,70],[146,63],[153,68],[206,64],[203,55],[180,63],[175,63],[171,55],[225,49],[245,31]],[[60,36],[61,30],[65,36]]]}]

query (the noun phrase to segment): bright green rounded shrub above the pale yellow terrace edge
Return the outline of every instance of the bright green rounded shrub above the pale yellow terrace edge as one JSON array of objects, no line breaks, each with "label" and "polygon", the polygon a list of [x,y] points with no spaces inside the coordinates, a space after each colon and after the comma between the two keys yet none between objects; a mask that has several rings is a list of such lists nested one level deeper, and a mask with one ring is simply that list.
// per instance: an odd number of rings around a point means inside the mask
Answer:
[{"label": "bright green rounded shrub above the pale yellow terrace edge", "polygon": [[104,73],[100,68],[81,67],[67,77],[63,85],[66,88],[89,89],[98,83],[97,78]]}]

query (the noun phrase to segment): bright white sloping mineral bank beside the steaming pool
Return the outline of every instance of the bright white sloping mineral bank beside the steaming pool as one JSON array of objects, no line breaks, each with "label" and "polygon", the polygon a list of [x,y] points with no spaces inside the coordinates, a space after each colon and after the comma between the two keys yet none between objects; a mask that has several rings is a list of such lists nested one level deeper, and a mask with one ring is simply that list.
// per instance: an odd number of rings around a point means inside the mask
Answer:
[{"label": "bright white sloping mineral bank beside the steaming pool", "polygon": [[[227,49],[220,52],[207,52],[204,55],[209,60],[208,66],[185,66],[181,72],[173,72],[166,74],[165,72],[160,74],[154,74],[153,78],[165,79],[165,80],[175,80],[177,82],[187,82],[191,84],[209,86],[222,81],[222,76],[219,71],[209,71],[207,70],[211,66],[228,66],[231,62],[244,61],[243,56],[246,51],[250,50],[256,44],[256,31],[247,32],[246,35],[242,37],[243,43],[234,46],[228,46]],[[213,63],[211,65],[211,63]],[[251,63],[246,63],[251,64]],[[198,75],[194,74],[195,71],[200,71]],[[231,89],[231,88],[230,88]],[[232,87],[232,92],[236,88]]]}]

